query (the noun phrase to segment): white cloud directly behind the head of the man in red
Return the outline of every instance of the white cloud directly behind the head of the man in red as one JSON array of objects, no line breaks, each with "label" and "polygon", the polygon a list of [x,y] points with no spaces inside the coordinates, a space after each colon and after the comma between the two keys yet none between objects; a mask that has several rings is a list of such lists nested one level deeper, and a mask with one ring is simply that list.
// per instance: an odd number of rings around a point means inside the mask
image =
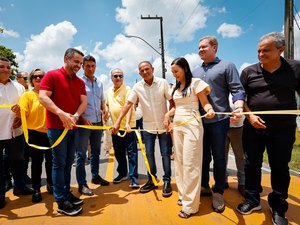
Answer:
[{"label": "white cloud directly behind the head of the man in red", "polygon": [[[64,52],[70,47],[76,33],[72,23],[63,21],[47,26],[40,34],[31,35],[23,55],[18,57],[20,70],[30,71],[36,67],[49,70],[61,67]],[[80,46],[78,48],[82,49]]]}]

